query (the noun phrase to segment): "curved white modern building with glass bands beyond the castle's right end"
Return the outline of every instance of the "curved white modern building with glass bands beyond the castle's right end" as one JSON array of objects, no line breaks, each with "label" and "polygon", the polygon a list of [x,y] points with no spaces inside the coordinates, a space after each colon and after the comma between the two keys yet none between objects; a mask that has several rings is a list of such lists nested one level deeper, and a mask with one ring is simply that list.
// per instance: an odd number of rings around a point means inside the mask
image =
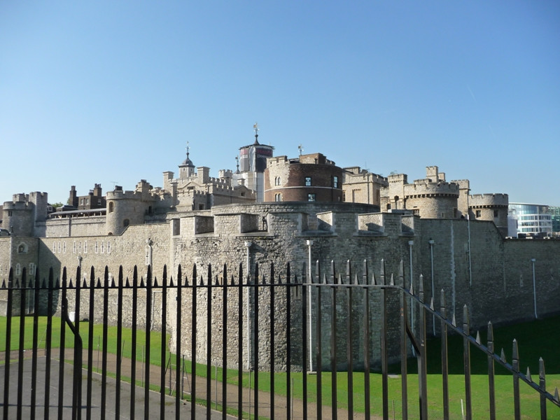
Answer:
[{"label": "curved white modern building with glass bands beyond the castle's right end", "polygon": [[[543,204],[510,203],[508,218],[517,221],[517,235],[552,236],[552,214]],[[510,232],[510,236],[513,232]],[[515,235],[515,236],[517,236]]]}]

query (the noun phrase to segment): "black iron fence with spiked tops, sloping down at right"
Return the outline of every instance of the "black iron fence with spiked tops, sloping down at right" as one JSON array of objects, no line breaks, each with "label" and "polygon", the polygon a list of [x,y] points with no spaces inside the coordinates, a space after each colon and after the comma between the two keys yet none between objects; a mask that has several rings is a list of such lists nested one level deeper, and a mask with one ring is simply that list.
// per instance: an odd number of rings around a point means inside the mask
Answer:
[{"label": "black iron fence with spiked tops, sloping down at right", "polygon": [[[150,267],[145,279],[139,277],[136,267],[132,279],[123,278],[122,267],[117,279],[109,275],[107,268],[103,280],[96,277],[93,267],[89,279],[79,267],[73,279],[67,278],[66,269],[63,273],[62,279],[56,279],[50,269],[48,276],[41,277],[37,269],[34,278],[28,279],[25,269],[20,278],[14,278],[10,270],[8,284],[1,285],[0,298],[6,301],[7,308],[3,419],[195,419],[201,416],[200,404],[206,405],[202,415],[208,419],[241,419],[248,415],[269,419],[370,419],[374,408],[378,408],[371,405],[370,397],[375,393],[381,401],[379,415],[391,419],[395,405],[393,399],[391,406],[388,381],[390,363],[395,360],[400,362],[400,418],[409,418],[411,411],[411,418],[428,419],[426,339],[434,332],[441,337],[439,403],[444,419],[456,418],[450,414],[449,405],[450,333],[463,339],[463,418],[472,419],[472,407],[479,404],[472,400],[471,351],[482,351],[487,356],[490,419],[496,418],[497,365],[512,376],[515,419],[521,419],[523,383],[538,395],[541,419],[547,418],[547,405],[554,410],[560,407],[558,389],[554,394],[547,391],[542,360],[535,382],[530,372],[520,372],[517,342],[513,344],[512,363],[507,363],[503,352],[494,352],[491,324],[487,343],[482,344],[478,336],[470,335],[466,307],[459,327],[455,316],[447,316],[443,292],[439,297],[440,311],[436,311],[433,297],[425,301],[422,279],[417,290],[412,284],[405,287],[402,274],[395,284],[393,276],[386,278],[383,262],[377,279],[368,274],[365,262],[360,277],[351,274],[350,264],[344,276],[335,274],[334,265],[330,276],[321,275],[317,265],[311,279],[305,267],[298,279],[289,265],[281,275],[274,272],[274,265],[270,265],[267,275],[262,275],[256,265],[251,276],[244,276],[241,265],[235,275],[224,265],[219,276],[211,266],[204,276],[199,276],[195,266],[190,279],[183,276],[179,266],[176,276],[169,279],[164,268],[160,281],[153,277]],[[156,291],[161,292],[158,332],[153,330],[152,322]],[[201,301],[204,294],[207,297]],[[73,311],[69,311],[69,301]],[[26,314],[29,302],[33,315],[20,316],[16,323],[14,316]],[[82,307],[83,302],[87,307]],[[123,321],[127,316],[130,328],[125,328]],[[97,351],[93,344],[96,317],[102,319],[102,346]],[[30,331],[26,318],[33,320]],[[41,340],[40,319],[46,322]],[[87,330],[80,330],[85,320],[89,321]],[[432,325],[426,327],[427,323]],[[116,328],[113,349],[109,349],[110,324]],[[17,325],[18,342],[13,342],[13,328]],[[130,358],[123,356],[125,331],[130,334]],[[171,340],[168,332],[172,332]],[[69,349],[66,334],[71,337]],[[153,343],[154,339],[159,343]],[[157,344],[159,356],[155,366],[151,363],[152,344]],[[169,346],[176,356],[169,354]],[[143,354],[137,360],[140,347]],[[418,394],[413,398],[418,405],[413,410],[408,395],[411,375],[407,373],[411,356],[416,359],[418,380]],[[98,365],[94,367],[96,357],[101,358],[99,369]],[[345,398],[337,393],[341,367]],[[252,375],[247,374],[247,368]],[[358,368],[361,372],[379,370],[381,388],[372,386],[370,374],[356,374]],[[267,371],[267,375],[261,377],[256,373],[260,371]],[[293,386],[296,376],[301,381],[301,392],[297,393]],[[359,388],[364,401],[359,410],[354,406],[358,377],[363,381]],[[267,384],[262,384],[263,380]],[[267,391],[259,391],[260,388]],[[330,395],[325,395],[327,388]],[[330,403],[323,403],[327,396]],[[212,407],[221,409],[221,414],[212,411]]]}]

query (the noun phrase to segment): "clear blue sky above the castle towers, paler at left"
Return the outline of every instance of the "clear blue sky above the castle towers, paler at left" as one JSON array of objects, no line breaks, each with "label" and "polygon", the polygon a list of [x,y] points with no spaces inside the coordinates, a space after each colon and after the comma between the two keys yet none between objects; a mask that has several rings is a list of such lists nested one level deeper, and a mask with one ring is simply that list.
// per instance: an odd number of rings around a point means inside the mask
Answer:
[{"label": "clear blue sky above the castle towers, paler at left", "polygon": [[162,186],[186,142],[560,204],[559,1],[0,2],[0,202]]}]

